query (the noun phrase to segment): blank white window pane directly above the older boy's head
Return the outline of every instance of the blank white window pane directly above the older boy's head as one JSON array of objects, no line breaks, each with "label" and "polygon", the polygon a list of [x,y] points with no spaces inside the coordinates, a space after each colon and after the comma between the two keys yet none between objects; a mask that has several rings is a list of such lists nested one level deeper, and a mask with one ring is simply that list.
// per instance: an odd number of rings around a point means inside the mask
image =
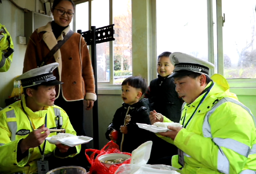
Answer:
[{"label": "blank white window pane directly above the older boy's head", "polygon": [[207,1],[156,1],[157,55],[183,52],[208,61]]}]

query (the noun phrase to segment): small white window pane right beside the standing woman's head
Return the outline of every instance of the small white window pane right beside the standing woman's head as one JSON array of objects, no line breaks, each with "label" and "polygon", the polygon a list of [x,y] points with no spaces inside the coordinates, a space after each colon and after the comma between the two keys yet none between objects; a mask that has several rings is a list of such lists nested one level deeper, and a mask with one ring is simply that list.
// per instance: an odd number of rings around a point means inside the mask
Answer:
[{"label": "small white window pane right beside the standing woman's head", "polygon": [[76,5],[76,30],[82,30],[82,32],[89,30],[88,5],[88,2]]}]

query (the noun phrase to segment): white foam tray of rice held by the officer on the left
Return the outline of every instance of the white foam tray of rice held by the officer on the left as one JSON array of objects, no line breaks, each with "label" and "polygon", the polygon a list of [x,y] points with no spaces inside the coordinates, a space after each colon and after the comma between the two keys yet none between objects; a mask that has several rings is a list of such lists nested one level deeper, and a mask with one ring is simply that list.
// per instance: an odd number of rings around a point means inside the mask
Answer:
[{"label": "white foam tray of rice held by the officer on the left", "polygon": [[74,147],[76,145],[85,144],[93,140],[93,138],[88,136],[70,136],[60,140],[51,140],[52,137],[47,137],[46,140],[51,144],[65,144],[69,147]]}]

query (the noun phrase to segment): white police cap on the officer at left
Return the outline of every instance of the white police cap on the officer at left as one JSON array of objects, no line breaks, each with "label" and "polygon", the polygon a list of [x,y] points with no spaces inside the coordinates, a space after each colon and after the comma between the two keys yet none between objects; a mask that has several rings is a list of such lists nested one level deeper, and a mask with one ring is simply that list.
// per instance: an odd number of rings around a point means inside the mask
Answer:
[{"label": "white police cap on the officer at left", "polygon": [[54,86],[63,84],[63,82],[56,80],[56,77],[53,75],[53,70],[58,66],[59,63],[57,62],[41,66],[40,68],[32,69],[23,73],[15,80],[21,80],[23,88],[36,85]]}]

